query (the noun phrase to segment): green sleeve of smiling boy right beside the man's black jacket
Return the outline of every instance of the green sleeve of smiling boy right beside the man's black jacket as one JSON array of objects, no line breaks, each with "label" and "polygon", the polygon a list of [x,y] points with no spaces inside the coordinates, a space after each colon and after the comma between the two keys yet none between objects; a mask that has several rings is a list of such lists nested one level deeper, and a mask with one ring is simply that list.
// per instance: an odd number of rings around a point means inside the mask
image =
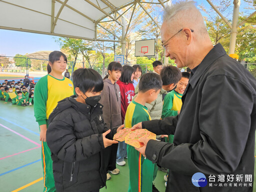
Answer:
[{"label": "green sleeve of smiling boy right beside the man's black jacket", "polygon": [[171,109],[172,105],[173,105],[173,94],[169,92],[168,94],[166,94],[166,96],[163,99],[161,118],[164,118],[166,116],[176,116],[178,114],[177,110]]}]

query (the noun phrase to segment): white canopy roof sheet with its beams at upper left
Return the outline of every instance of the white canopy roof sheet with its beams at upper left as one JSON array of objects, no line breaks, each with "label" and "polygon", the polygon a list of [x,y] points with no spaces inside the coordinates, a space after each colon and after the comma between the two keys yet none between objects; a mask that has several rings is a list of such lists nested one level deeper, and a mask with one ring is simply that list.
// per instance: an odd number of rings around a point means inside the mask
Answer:
[{"label": "white canopy roof sheet with its beams at upper left", "polygon": [[[103,40],[97,39],[100,21],[108,17],[122,25],[119,10],[137,2],[140,4],[139,0],[0,0],[0,28]],[[161,0],[154,3],[163,5]]]}]

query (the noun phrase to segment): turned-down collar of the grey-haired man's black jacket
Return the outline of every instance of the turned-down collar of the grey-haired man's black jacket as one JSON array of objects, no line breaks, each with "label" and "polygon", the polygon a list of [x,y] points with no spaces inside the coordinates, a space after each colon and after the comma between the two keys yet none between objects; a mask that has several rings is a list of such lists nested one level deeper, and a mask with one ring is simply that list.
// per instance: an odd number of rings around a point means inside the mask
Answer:
[{"label": "turned-down collar of the grey-haired man's black jacket", "polygon": [[[204,71],[220,56],[226,54],[226,51],[222,47],[220,43],[217,43],[206,56],[202,59],[201,63],[198,65],[198,68],[194,72],[194,74],[189,78],[189,84],[194,88],[198,80]],[[187,89],[187,88],[186,88]]]}]

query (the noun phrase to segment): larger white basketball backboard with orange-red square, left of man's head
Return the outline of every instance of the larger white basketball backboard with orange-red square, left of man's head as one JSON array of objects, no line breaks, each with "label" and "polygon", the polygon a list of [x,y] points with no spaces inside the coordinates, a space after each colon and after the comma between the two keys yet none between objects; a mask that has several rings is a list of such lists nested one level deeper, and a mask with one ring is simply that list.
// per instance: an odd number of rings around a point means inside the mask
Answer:
[{"label": "larger white basketball backboard with orange-red square, left of man's head", "polygon": [[155,39],[136,40],[135,56],[154,56]]}]

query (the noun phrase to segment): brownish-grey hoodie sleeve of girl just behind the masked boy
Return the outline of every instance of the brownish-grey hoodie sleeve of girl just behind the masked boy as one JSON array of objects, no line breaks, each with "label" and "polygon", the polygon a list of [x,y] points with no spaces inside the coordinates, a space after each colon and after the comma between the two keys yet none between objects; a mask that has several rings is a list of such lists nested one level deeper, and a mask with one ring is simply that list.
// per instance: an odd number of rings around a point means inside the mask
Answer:
[{"label": "brownish-grey hoodie sleeve of girl just behind the masked boy", "polygon": [[99,103],[103,105],[102,111],[103,111],[104,122],[106,123],[106,126],[110,128],[111,110],[110,110],[109,88],[106,85],[103,86]]}]

